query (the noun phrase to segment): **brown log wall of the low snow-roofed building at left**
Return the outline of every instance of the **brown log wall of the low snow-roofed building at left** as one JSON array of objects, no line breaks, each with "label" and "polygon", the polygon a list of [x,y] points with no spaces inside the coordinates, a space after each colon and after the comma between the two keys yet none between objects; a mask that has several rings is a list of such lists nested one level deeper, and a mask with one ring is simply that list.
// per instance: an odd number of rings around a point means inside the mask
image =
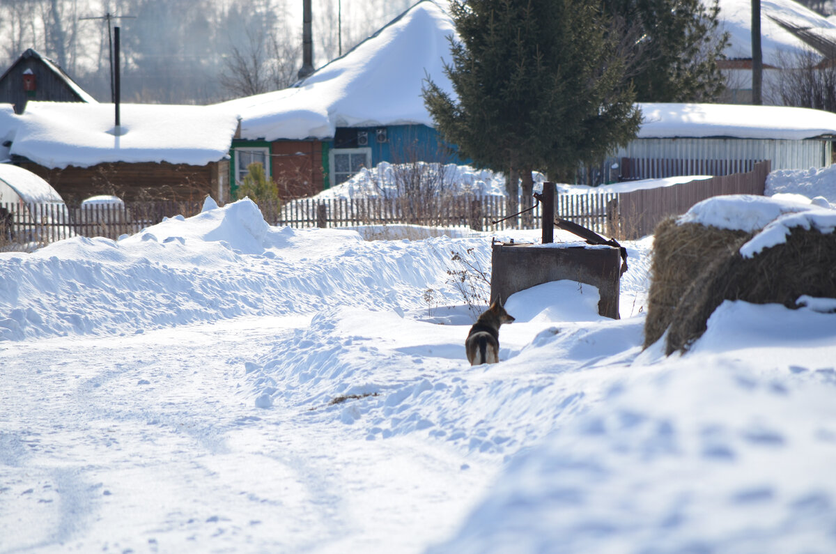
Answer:
[{"label": "brown log wall of the low snow-roofed building at left", "polygon": [[[32,162],[21,167],[42,177],[69,206],[84,198],[113,194],[125,200],[202,200],[207,195],[223,203],[219,190],[228,190],[228,163],[206,166],[171,163],[101,163],[93,167],[49,169]],[[219,179],[222,181],[219,182]]]}]

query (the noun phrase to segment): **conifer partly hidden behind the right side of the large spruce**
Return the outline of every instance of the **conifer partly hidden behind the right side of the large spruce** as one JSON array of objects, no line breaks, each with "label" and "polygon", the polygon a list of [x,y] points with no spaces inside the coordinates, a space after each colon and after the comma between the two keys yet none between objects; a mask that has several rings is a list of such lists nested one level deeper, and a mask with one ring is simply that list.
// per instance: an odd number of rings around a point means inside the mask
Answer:
[{"label": "conifer partly hidden behind the right side of the large spruce", "polygon": [[728,43],[718,0],[601,0],[630,56],[640,102],[710,101],[724,88],[717,67]]}]

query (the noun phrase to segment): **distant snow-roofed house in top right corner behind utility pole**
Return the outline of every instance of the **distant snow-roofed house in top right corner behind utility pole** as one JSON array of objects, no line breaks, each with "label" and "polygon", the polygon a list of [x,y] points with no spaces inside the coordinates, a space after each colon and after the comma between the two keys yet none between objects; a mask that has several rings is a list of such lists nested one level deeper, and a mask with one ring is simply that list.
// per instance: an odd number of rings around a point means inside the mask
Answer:
[{"label": "distant snow-roofed house in top right corner behind utility pole", "polygon": [[[751,104],[751,0],[720,0],[719,19],[729,45],[726,59],[718,62],[726,76],[726,91],[718,101]],[[782,104],[777,90],[781,69],[792,68],[805,55],[819,61],[836,58],[836,23],[793,0],[761,3],[761,51],[763,103]]]}]

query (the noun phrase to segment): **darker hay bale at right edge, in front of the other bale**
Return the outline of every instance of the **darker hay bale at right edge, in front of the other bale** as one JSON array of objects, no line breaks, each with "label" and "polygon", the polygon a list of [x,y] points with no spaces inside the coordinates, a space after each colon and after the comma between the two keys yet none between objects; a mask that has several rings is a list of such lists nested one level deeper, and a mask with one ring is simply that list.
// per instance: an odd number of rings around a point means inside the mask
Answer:
[{"label": "darker hay bale at right edge, in front of the other bale", "polygon": [[[667,354],[685,351],[706,331],[723,300],[798,308],[801,295],[836,298],[836,234],[791,228],[786,242],[746,258],[738,249],[716,259],[694,280],[673,311]],[[650,315],[650,314],[648,314]]]}]

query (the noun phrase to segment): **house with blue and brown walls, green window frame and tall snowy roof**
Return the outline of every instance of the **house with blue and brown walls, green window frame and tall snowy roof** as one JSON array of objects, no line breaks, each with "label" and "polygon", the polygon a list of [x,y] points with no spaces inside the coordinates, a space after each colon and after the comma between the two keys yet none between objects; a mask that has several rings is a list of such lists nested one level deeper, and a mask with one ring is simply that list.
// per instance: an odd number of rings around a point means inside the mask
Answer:
[{"label": "house with blue and brown walls, green window frame and tall snowy roof", "polygon": [[380,162],[456,162],[421,98],[427,74],[452,90],[443,66],[454,34],[423,0],[292,87],[223,103],[242,118],[230,182],[262,162],[283,197],[300,197]]}]

